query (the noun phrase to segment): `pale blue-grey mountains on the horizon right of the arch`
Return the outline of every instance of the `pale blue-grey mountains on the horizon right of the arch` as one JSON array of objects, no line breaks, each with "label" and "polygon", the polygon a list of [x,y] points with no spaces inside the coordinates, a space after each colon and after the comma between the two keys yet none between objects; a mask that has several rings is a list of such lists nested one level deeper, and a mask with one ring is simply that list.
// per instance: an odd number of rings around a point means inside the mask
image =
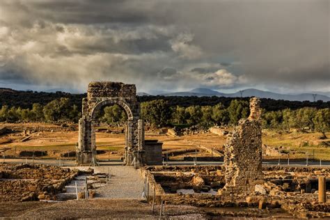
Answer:
[{"label": "pale blue-grey mountains on the horizon right of the arch", "polygon": [[[238,91],[237,93],[219,93],[218,91],[213,91],[209,88],[195,88],[191,91],[187,92],[178,92],[178,93],[164,93],[159,94],[164,96],[223,96],[223,97],[241,97],[241,93]],[[256,96],[260,98],[269,98],[273,100],[288,100],[288,101],[310,101],[313,102],[313,94],[312,93],[302,93],[297,95],[290,95],[290,94],[280,94],[280,93],[272,93],[267,91],[261,91],[255,88],[248,88],[244,89],[242,92],[242,97],[251,97]],[[327,95],[317,94],[315,100],[322,100],[323,102],[329,102],[330,97]]]}]

